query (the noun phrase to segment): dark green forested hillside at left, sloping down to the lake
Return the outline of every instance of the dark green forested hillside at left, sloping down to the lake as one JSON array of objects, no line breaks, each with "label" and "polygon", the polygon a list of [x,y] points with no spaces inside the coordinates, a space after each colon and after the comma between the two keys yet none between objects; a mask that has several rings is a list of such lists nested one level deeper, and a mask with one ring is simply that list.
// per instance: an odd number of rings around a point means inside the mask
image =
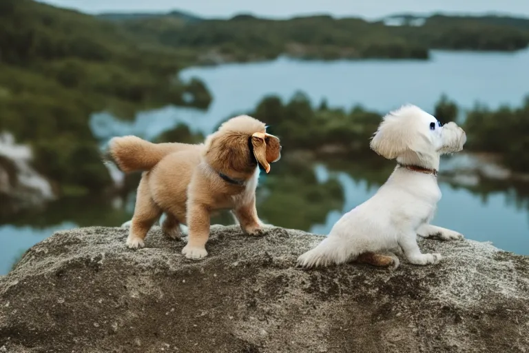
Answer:
[{"label": "dark green forested hillside at left, sloping down to the lake", "polygon": [[[0,130],[32,145],[35,165],[63,193],[110,183],[90,114],[123,117],[169,103],[206,107],[199,81],[175,74],[196,54],[149,43],[114,23],[31,0],[0,2]],[[184,92],[194,100],[186,102]]]}]

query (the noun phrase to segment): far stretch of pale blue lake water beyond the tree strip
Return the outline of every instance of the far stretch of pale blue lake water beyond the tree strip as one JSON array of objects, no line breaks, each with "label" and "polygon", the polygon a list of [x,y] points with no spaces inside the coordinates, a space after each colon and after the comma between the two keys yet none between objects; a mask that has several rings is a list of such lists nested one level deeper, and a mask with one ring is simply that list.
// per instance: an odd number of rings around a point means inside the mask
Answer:
[{"label": "far stretch of pale blue lake water beyond the tree strip", "polygon": [[119,131],[153,137],[179,121],[195,130],[211,132],[219,121],[248,112],[266,94],[284,99],[302,90],[317,104],[351,108],[361,104],[387,112],[404,103],[432,110],[443,93],[458,105],[472,108],[479,101],[490,108],[519,105],[529,94],[529,50],[505,52],[433,51],[430,61],[298,61],[280,58],[264,63],[230,63],[189,68],[185,80],[199,77],[211,90],[209,110],[166,107],[138,114],[131,122],[96,114],[92,129],[97,136]]}]

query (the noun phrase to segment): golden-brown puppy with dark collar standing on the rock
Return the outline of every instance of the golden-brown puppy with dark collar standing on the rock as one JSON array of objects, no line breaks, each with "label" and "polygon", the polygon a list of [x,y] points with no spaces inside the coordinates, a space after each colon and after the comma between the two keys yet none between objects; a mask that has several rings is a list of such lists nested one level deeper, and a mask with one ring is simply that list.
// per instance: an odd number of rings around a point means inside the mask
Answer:
[{"label": "golden-brown puppy with dark collar standing on the rock", "polygon": [[143,248],[154,222],[165,212],[163,231],[176,239],[180,224],[189,228],[182,253],[207,256],[210,213],[233,210],[243,231],[255,234],[263,224],[256,211],[258,164],[268,173],[280,159],[279,139],[264,123],[241,115],[229,119],[205,143],[149,143],[138,137],[114,137],[110,156],[123,172],[144,170],[127,245]]}]

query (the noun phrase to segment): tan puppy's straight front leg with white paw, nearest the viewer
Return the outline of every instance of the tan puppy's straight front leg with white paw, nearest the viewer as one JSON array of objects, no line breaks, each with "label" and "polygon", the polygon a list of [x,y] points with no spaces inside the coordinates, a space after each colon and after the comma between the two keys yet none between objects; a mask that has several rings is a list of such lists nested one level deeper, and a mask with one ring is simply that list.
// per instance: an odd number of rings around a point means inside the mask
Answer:
[{"label": "tan puppy's straight front leg with white paw, nearest the viewer", "polygon": [[206,242],[209,239],[209,208],[200,203],[191,203],[187,208],[189,236],[182,254],[187,259],[202,259],[207,256]]}]

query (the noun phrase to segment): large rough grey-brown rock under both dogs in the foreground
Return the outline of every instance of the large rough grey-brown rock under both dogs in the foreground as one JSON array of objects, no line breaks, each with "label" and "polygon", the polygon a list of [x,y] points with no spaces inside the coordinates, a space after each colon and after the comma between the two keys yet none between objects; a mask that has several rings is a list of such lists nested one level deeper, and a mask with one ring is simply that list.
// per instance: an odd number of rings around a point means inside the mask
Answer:
[{"label": "large rough grey-brown rock under both dogs in the foreground", "polygon": [[529,352],[529,257],[475,241],[397,270],[293,268],[320,236],[215,226],[209,256],[159,228],[58,232],[0,279],[0,352]]}]

